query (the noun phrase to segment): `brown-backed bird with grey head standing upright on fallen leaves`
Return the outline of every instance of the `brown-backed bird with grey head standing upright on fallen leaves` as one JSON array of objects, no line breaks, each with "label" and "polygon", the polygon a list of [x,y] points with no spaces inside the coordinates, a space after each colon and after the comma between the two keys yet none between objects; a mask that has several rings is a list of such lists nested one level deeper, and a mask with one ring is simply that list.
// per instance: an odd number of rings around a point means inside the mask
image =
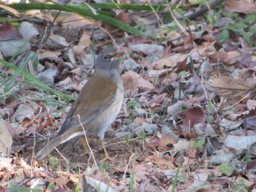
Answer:
[{"label": "brown-backed bird with grey head standing upright on fallen leaves", "polygon": [[85,131],[86,135],[96,133],[99,137],[105,152],[103,161],[113,161],[103,139],[124,100],[124,86],[118,70],[123,55],[124,52],[113,47],[99,53],[94,73],[81,89],[56,136],[36,153],[36,159],[45,158],[55,147],[69,139],[83,136]]}]

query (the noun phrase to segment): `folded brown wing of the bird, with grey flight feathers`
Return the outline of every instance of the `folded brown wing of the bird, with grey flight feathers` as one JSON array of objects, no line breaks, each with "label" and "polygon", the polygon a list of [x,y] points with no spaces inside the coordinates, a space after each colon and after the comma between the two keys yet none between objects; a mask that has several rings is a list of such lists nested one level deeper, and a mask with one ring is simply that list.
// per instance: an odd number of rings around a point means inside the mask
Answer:
[{"label": "folded brown wing of the bird, with grey flight feathers", "polygon": [[116,101],[118,86],[107,77],[94,77],[80,91],[57,136],[80,127],[80,123],[85,126]]}]

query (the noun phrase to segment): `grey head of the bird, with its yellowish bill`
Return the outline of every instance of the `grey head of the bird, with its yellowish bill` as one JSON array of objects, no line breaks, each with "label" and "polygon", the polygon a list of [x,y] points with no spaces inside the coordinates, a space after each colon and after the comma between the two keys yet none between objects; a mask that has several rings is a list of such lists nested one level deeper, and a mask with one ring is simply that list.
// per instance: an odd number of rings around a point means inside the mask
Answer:
[{"label": "grey head of the bird, with its yellowish bill", "polygon": [[102,50],[97,57],[95,69],[118,69],[122,55],[124,55],[124,52],[117,51],[114,48],[106,48]]}]

